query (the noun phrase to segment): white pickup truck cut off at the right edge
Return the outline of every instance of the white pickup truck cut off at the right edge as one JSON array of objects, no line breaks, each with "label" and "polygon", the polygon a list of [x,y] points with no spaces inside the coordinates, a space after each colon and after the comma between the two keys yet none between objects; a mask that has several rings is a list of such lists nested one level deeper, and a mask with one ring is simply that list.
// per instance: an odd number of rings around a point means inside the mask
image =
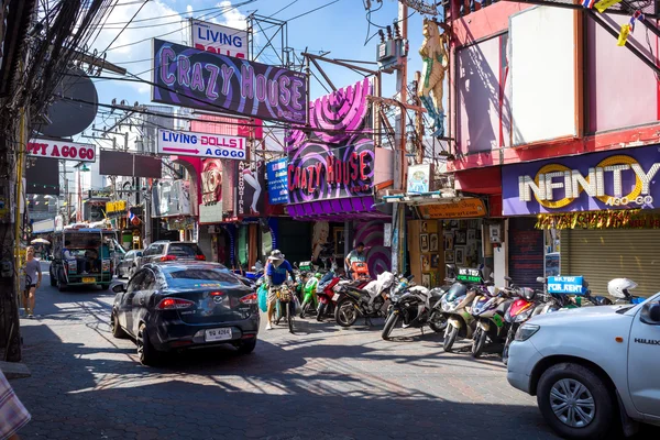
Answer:
[{"label": "white pickup truck cut off at the right edge", "polygon": [[639,305],[532,318],[509,349],[509,384],[530,395],[564,438],[660,426],[660,294]]}]

